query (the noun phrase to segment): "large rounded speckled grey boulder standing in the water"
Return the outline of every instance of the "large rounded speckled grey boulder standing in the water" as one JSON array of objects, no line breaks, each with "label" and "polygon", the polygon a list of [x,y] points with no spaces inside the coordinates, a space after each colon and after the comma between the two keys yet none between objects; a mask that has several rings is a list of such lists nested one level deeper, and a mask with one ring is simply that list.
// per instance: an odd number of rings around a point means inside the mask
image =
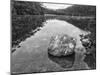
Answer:
[{"label": "large rounded speckled grey boulder standing in the water", "polygon": [[67,56],[74,53],[76,40],[68,35],[56,35],[51,37],[48,53],[53,56]]}]

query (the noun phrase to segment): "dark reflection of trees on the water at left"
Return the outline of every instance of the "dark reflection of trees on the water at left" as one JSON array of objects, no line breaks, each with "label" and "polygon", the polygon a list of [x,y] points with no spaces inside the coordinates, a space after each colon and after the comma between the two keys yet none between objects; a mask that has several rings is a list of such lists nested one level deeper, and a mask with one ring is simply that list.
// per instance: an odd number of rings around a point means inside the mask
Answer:
[{"label": "dark reflection of trees on the water at left", "polygon": [[12,46],[17,45],[27,37],[36,33],[39,30],[39,27],[43,26],[43,21],[43,16],[13,16]]}]

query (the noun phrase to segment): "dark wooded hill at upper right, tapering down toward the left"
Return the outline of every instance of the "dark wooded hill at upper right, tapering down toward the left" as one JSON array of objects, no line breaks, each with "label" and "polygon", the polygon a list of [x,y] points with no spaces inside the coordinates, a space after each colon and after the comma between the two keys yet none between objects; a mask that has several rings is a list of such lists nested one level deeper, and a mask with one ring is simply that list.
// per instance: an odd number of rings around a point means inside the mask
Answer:
[{"label": "dark wooded hill at upper right, tapering down toward the left", "polygon": [[74,16],[95,16],[96,7],[88,5],[73,5],[66,9],[58,10],[57,12],[62,12],[62,14]]}]

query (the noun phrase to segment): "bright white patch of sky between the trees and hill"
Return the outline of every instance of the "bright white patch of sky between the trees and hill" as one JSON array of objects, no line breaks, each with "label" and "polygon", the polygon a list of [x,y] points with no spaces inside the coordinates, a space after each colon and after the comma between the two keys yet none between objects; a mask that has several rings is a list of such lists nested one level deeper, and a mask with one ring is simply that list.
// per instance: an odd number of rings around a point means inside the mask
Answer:
[{"label": "bright white patch of sky between the trees and hill", "polygon": [[43,3],[43,7],[48,8],[48,9],[53,9],[53,10],[64,9],[64,8],[68,8],[70,6],[72,6],[72,5]]}]

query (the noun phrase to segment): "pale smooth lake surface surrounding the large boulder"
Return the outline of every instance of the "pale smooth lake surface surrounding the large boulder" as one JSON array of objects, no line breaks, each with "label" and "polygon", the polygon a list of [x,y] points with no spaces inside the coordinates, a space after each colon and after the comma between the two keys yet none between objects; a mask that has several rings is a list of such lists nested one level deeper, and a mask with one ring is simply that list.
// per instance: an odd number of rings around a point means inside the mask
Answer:
[{"label": "pale smooth lake surface surrounding the large boulder", "polygon": [[[84,61],[84,47],[80,34],[88,32],[60,19],[46,19],[39,30],[19,43],[20,47],[11,54],[13,73],[52,72],[67,70],[85,70],[91,67]],[[34,25],[33,25],[34,26]],[[34,32],[32,30],[31,32]],[[48,54],[50,38],[58,34],[67,34],[77,40],[75,54],[67,57],[53,57]],[[80,48],[80,49],[79,49]],[[91,63],[90,63],[91,64]]]}]

